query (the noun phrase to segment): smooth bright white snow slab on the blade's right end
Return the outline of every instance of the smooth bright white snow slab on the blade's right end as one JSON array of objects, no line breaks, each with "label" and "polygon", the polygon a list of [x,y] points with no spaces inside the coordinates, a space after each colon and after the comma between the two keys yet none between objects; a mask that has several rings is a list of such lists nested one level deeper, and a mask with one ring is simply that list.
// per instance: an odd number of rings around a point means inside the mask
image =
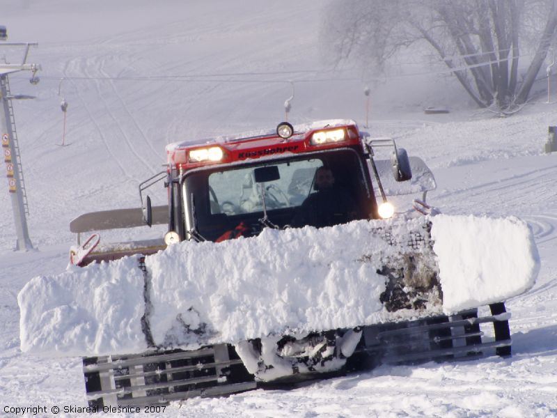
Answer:
[{"label": "smooth bright white snow slab on the blade's right end", "polygon": [[472,215],[432,221],[446,313],[500,302],[533,286],[540,257],[526,222]]}]

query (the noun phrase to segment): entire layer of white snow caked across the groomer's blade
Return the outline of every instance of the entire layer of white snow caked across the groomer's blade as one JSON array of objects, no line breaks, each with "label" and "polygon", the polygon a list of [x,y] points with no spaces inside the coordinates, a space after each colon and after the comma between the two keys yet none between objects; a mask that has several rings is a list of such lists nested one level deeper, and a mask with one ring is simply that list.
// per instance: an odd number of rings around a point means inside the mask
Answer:
[{"label": "entire layer of white snow caked across the groomer's blade", "polygon": [[[393,237],[425,233],[439,265],[444,305],[387,311],[386,263],[407,251]],[[436,258],[438,258],[436,260]],[[499,302],[530,288],[539,268],[528,226],[516,218],[437,217],[359,221],[333,228],[267,229],[214,244],[182,242],[146,257],[36,277],[18,295],[22,350],[43,355],[141,353],[207,343],[370,325]],[[150,333],[143,334],[145,316]]]}]

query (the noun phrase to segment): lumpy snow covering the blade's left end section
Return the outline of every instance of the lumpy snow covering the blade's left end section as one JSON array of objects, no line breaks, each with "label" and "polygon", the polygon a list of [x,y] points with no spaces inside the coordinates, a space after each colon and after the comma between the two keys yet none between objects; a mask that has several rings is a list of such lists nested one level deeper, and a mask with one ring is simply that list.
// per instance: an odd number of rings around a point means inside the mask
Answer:
[{"label": "lumpy snow covering the blade's left end section", "polygon": [[71,356],[146,350],[143,285],[135,257],[31,279],[17,295],[22,351]]}]

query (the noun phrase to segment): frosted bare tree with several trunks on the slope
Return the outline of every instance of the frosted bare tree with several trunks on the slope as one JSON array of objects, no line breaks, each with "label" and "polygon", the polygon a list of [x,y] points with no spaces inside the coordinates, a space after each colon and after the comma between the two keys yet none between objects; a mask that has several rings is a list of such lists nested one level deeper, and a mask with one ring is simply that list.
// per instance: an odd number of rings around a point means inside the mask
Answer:
[{"label": "frosted bare tree with several trunks on the slope", "polygon": [[379,68],[425,41],[478,106],[512,109],[556,37],[557,0],[334,0],[323,28],[336,61]]}]

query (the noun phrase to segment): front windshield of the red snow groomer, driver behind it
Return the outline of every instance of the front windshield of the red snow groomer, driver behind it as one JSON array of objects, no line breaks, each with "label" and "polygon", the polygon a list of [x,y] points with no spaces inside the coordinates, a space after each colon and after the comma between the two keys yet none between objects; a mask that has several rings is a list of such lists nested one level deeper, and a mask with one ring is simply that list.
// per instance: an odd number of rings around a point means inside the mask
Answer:
[{"label": "front windshield of the red snow groomer, driver behind it", "polygon": [[[331,183],[327,190],[318,187],[322,177]],[[367,179],[350,149],[188,173],[182,185],[185,230],[214,241],[240,224],[241,235],[251,236],[264,224],[321,227],[368,218],[375,196]]]}]

